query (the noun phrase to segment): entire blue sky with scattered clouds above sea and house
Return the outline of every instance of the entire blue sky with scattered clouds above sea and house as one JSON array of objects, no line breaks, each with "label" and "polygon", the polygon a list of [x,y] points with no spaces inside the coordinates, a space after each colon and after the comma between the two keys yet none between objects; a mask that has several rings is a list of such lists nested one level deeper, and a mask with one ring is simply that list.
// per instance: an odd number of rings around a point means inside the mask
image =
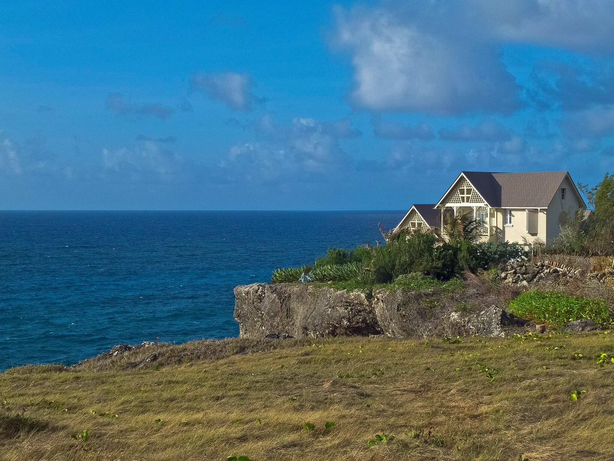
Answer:
[{"label": "entire blue sky with scattered clouds above sea and house", "polygon": [[0,209],[403,210],[614,173],[614,2],[9,2]]}]

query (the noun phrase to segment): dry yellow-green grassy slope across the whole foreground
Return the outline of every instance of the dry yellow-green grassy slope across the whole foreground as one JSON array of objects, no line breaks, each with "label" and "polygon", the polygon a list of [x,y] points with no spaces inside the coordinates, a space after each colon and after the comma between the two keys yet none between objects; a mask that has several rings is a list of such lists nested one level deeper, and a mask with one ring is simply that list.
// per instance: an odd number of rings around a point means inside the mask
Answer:
[{"label": "dry yellow-green grassy slope across the whole foreground", "polygon": [[[188,351],[194,342],[165,346],[158,370],[129,368],[126,358],[12,369],[0,374],[10,406],[0,409],[0,459],[614,459],[614,364],[594,358],[612,353],[612,334],[429,342],[276,341],[204,361]],[[578,351],[584,357],[572,360]],[[173,354],[188,363],[171,364]],[[476,363],[494,368],[495,380]],[[586,393],[572,401],[573,390]],[[336,427],[324,430],[329,420]],[[303,421],[316,431],[301,431]],[[84,429],[87,452],[70,438]],[[369,449],[383,432],[397,438]]]}]

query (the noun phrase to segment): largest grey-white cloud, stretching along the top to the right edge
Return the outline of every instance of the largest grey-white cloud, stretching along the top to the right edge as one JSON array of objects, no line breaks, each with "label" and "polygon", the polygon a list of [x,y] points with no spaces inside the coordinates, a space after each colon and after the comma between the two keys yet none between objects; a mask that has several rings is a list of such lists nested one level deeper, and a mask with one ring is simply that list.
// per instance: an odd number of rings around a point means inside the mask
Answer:
[{"label": "largest grey-white cloud, stretching along the top to the right edge", "polygon": [[351,54],[360,108],[510,114],[522,104],[503,45],[611,53],[612,18],[601,0],[383,0],[338,9],[335,43]]}]

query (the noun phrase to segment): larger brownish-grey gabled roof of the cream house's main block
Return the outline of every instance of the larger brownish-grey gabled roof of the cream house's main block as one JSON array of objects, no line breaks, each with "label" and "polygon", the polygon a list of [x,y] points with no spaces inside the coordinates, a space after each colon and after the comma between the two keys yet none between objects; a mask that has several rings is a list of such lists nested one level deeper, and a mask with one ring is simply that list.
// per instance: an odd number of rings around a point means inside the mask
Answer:
[{"label": "larger brownish-grey gabled roof of the cream house's main block", "polygon": [[[452,187],[437,203],[439,205],[464,176],[476,191],[494,208],[547,208],[558,192],[563,179],[569,178],[581,203],[580,192],[567,171],[534,171],[529,173],[495,173],[491,171],[461,171]],[[435,206],[437,206],[435,205]],[[586,204],[585,204],[586,206]]]}]

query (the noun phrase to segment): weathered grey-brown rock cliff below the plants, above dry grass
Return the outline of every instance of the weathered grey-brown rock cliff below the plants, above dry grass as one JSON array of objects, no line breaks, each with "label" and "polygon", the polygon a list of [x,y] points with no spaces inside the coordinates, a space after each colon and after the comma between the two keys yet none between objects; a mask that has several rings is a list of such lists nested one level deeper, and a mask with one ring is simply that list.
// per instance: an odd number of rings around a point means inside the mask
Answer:
[{"label": "weathered grey-brown rock cliff below the plants, above dry grass", "polygon": [[254,283],[235,287],[239,336],[389,337],[502,336],[502,310],[456,312],[453,304],[397,289],[335,290],[303,283]]}]

